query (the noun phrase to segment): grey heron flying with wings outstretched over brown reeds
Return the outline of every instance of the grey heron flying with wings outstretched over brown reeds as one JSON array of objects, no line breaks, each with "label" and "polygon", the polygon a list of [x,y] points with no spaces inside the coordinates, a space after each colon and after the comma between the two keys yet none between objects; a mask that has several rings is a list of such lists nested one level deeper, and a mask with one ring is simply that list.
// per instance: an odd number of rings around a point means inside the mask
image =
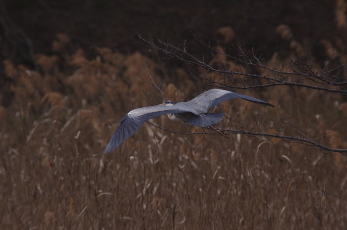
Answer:
[{"label": "grey heron flying with wings outstretched over brown reeds", "polygon": [[126,138],[131,137],[146,121],[166,114],[169,116],[170,120],[174,122],[185,122],[188,125],[197,127],[210,127],[225,136],[227,133],[215,126],[223,119],[224,113],[208,113],[207,111],[223,101],[234,98],[241,98],[275,107],[265,101],[241,93],[222,89],[212,89],[201,93],[187,102],[174,103],[168,100],[163,104],[133,109],[119,121],[119,125],[107,145],[104,154],[118,148]]}]

